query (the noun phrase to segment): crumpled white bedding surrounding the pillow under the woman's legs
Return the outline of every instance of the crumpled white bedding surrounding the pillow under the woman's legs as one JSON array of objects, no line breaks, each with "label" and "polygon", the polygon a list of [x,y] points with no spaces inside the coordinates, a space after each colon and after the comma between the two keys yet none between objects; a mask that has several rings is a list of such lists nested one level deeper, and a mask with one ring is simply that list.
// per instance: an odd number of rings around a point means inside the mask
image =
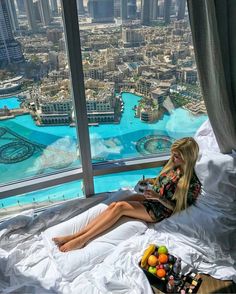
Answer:
[{"label": "crumpled white bedding surrounding the pillow under the woman's legs", "polygon": [[[104,202],[130,193],[132,191],[120,191]],[[102,262],[92,263],[90,270],[72,280],[61,275],[41,232],[47,221],[49,226],[55,225],[70,218],[68,211],[74,210],[73,215],[84,211],[87,200],[82,200],[83,209],[79,208],[77,200],[76,208],[74,203],[71,208],[57,207],[56,212],[51,209],[50,213],[32,216],[31,221],[28,215],[25,230],[22,224],[15,230],[11,227],[7,233],[3,223],[0,227],[0,293],[151,294],[150,285],[138,266],[150,243],[164,244],[171,253],[181,257],[184,273],[195,270],[236,282],[236,242],[233,239],[236,217],[230,213],[230,207],[222,211],[211,206],[211,197],[214,199],[211,195],[202,195],[196,206],[161,223],[150,224],[144,233],[123,240]]]}]

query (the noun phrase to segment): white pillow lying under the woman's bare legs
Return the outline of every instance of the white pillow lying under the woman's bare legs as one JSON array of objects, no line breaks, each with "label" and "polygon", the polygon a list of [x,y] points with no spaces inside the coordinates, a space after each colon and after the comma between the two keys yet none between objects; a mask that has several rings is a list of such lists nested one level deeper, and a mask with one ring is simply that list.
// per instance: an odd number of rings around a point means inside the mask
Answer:
[{"label": "white pillow lying under the woman's bare legs", "polygon": [[99,235],[84,248],[66,253],[59,251],[52,241],[53,237],[79,231],[106,208],[106,204],[98,204],[82,214],[53,226],[42,233],[49,255],[65,278],[72,280],[82,272],[91,270],[97,263],[102,262],[120,242],[146,231],[146,223],[123,217],[111,230]]}]

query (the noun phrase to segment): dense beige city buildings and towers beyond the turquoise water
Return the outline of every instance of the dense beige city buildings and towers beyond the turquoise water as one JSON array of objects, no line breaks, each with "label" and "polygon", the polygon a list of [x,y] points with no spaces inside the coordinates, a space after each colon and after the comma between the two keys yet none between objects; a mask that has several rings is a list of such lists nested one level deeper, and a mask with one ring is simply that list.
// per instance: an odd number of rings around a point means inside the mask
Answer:
[{"label": "dense beige city buildings and towers beyond the turquoise water", "polygon": [[[138,5],[137,5],[138,4]],[[185,0],[77,1],[90,123],[118,123],[120,92],[142,96],[135,116],[154,122],[173,107],[206,113]],[[0,95],[19,93],[37,125],[73,125],[69,67],[57,0],[1,0]]]}]

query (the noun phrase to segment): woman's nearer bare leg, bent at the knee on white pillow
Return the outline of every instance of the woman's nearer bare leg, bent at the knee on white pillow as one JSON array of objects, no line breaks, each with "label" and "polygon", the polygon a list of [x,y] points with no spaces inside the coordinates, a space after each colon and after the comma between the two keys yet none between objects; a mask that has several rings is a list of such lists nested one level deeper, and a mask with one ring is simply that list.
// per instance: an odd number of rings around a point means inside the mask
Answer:
[{"label": "woman's nearer bare leg, bent at the knee on white pillow", "polygon": [[120,201],[112,203],[102,214],[97,216],[84,234],[60,246],[63,252],[82,248],[88,241],[112,227],[122,216],[128,216],[146,222],[154,222],[145,207],[137,201]]}]

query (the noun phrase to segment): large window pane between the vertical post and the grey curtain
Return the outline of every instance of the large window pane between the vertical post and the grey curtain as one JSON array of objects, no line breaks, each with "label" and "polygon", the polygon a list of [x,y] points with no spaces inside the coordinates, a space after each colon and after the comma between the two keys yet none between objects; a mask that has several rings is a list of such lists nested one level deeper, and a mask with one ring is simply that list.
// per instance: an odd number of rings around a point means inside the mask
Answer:
[{"label": "large window pane between the vertical post and the grey curtain", "polygon": [[186,1],[77,3],[94,162],[160,154],[194,135],[207,114]]}]

